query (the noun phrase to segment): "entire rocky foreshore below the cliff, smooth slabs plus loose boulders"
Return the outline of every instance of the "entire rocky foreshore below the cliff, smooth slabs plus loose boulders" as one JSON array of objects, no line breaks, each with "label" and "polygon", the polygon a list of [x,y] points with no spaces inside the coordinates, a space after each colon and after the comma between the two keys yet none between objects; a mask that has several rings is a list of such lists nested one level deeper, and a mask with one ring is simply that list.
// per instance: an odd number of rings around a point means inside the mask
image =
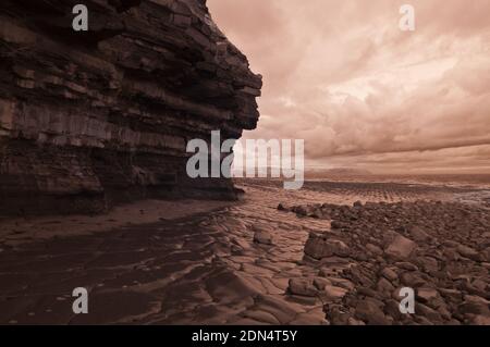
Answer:
[{"label": "entire rocky foreshore below the cliff, smooth slabs plus loose boulders", "polygon": [[[421,187],[240,187],[225,205],[0,221],[0,323],[489,324],[487,206]],[[72,311],[75,287],[88,314]]]}]

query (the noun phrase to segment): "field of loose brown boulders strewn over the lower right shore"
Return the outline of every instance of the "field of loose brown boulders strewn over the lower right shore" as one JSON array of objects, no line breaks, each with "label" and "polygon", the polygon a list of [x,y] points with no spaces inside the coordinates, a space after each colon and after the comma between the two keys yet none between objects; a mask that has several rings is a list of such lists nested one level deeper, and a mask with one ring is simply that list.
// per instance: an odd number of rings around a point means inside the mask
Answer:
[{"label": "field of loose brown boulders strewn over the lower right shore", "polygon": [[[322,298],[330,323],[490,324],[488,209],[441,201],[279,209],[331,220],[305,245],[318,275],[289,288]],[[415,290],[415,314],[399,309],[403,287]]]}]

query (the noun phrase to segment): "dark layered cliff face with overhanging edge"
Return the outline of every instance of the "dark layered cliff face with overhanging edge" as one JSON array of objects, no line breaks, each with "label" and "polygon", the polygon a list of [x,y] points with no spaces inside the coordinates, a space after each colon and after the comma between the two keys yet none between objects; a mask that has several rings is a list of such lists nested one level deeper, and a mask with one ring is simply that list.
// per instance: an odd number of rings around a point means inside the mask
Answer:
[{"label": "dark layered cliff face with overhanging edge", "polygon": [[0,66],[0,214],[233,198],[187,177],[186,144],[255,128],[261,77],[205,0],[2,0]]}]

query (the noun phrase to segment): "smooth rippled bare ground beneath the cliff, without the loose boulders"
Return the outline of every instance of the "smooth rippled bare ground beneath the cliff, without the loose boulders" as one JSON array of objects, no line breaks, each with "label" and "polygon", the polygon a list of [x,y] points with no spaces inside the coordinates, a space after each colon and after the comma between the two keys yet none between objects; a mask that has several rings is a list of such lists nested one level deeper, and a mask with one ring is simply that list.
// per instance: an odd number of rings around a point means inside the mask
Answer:
[{"label": "smooth rippled bare ground beneath the cliff, without the loose boulders", "polygon": [[[366,287],[344,270],[352,263],[369,268],[371,262],[352,255],[330,257],[327,262],[305,258],[309,235],[339,233],[332,220],[343,214],[301,215],[278,210],[280,202],[305,206],[439,200],[444,206],[462,206],[458,197],[469,194],[476,198],[464,206],[473,209],[476,203],[475,213],[482,215],[478,238],[488,241],[485,233],[490,232],[488,210],[478,200],[481,189],[307,183],[304,190],[285,191],[275,182],[238,184],[246,194],[235,203],[142,201],[117,208],[109,215],[1,222],[0,323],[363,323],[355,312],[351,321],[343,322],[331,311],[333,303],[350,295],[359,297],[357,290]],[[466,265],[477,273],[488,271],[488,259],[477,260],[477,264]],[[390,261],[380,265],[389,268]],[[485,293],[488,276],[478,274],[478,280]],[[468,281],[471,284],[475,278]],[[316,289],[308,292],[310,284]],[[89,290],[88,314],[72,312],[71,293],[75,287]],[[326,295],[326,288],[334,295]],[[462,296],[489,299],[467,288],[457,290]],[[474,323],[463,313],[461,320],[450,317],[443,321],[448,322]]]}]

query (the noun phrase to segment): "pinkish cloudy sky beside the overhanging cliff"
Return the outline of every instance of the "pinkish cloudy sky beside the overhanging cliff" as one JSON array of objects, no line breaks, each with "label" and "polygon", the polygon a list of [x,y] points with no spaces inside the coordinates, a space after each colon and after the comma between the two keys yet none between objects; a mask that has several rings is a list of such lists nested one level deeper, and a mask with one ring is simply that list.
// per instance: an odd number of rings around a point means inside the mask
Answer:
[{"label": "pinkish cloudy sky beside the overhanging cliff", "polygon": [[264,76],[245,138],[304,139],[310,168],[490,173],[490,0],[207,4]]}]

